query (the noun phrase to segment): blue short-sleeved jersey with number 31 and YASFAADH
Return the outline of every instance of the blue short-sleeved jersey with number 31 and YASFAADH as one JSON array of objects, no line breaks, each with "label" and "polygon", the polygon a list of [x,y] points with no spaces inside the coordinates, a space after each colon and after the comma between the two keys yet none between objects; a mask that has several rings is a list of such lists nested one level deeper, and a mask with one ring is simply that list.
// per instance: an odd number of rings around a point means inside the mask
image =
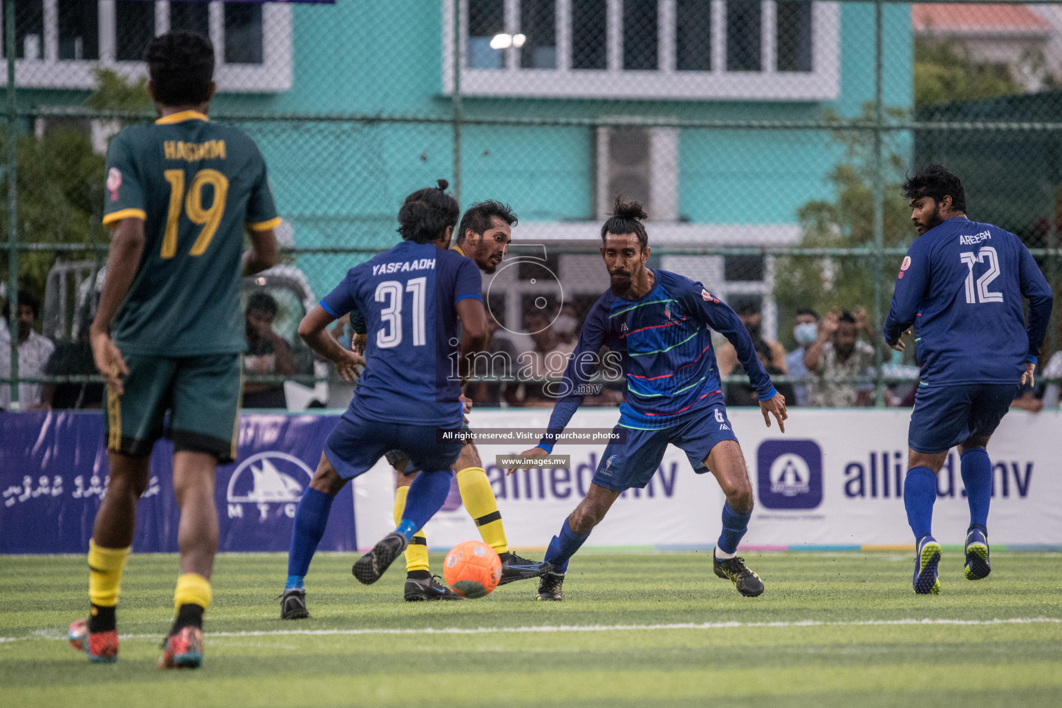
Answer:
[{"label": "blue short-sleeved jersey with number 31 and YASFAADH", "polygon": [[333,317],[358,310],[369,342],[349,413],[413,426],[461,426],[457,304],[482,299],[470,258],[402,241],[350,269],[321,300]]}]

